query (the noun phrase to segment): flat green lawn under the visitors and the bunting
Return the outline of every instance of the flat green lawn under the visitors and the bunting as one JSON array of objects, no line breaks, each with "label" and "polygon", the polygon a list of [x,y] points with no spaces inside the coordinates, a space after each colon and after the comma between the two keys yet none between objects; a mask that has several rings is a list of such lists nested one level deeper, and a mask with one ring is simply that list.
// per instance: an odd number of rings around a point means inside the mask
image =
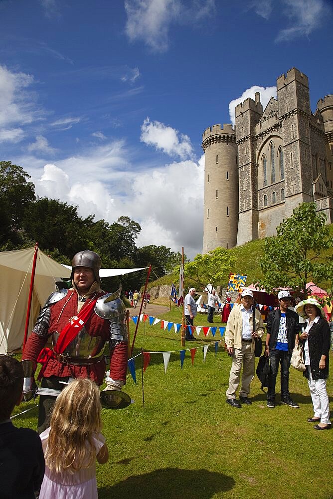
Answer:
[{"label": "flat green lawn under the visitors and the bunting", "polygon": [[[178,310],[161,318],[181,321]],[[195,323],[208,325],[205,316]],[[197,343],[186,344],[198,348],[194,365],[187,351],[181,370],[179,353],[171,353],[166,374],[162,353],[152,354],[144,374],[145,409],[141,358],[136,359],[137,385],[129,374],[125,387],[134,403],[102,411],[110,459],[97,465],[100,498],[333,498],[333,430],[319,432],[307,423],[313,412],[306,379],[291,368],[290,390],[299,410],[279,403],[268,409],[257,378],[253,405],[232,408],[225,403],[231,359],[224,343],[216,356],[212,344],[202,361],[202,345],[219,339],[218,331],[215,338],[201,332]],[[180,350],[180,333],[140,323],[134,355],[141,348]],[[331,397],[332,390],[329,380]],[[32,405],[21,404],[17,412]],[[35,429],[36,409],[13,423]]]}]

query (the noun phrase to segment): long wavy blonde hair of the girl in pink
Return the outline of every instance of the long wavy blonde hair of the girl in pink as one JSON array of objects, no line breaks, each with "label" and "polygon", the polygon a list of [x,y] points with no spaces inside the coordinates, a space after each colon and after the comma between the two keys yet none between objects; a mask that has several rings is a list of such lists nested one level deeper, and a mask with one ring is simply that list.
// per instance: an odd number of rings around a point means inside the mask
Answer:
[{"label": "long wavy blonde hair of the girl in pink", "polygon": [[66,386],[55,402],[50,427],[47,466],[58,473],[87,468],[96,458],[92,438],[102,427],[97,385],[90,379],[79,378]]}]

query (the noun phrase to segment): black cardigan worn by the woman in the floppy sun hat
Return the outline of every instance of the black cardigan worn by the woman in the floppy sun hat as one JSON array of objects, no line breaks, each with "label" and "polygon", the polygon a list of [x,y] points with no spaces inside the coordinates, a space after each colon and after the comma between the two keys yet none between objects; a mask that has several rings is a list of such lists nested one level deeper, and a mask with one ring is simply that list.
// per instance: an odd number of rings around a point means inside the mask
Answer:
[{"label": "black cardigan worn by the woman in the floppy sun hat", "polygon": [[[331,331],[328,322],[322,317],[317,323],[314,323],[309,330],[309,355],[310,367],[313,379],[326,379],[329,377],[329,352],[331,345]],[[302,341],[303,346],[305,341]],[[322,355],[326,355],[325,369],[319,369],[319,361]],[[303,357],[305,358],[304,348]],[[308,370],[303,373],[306,378],[309,377]]]}]

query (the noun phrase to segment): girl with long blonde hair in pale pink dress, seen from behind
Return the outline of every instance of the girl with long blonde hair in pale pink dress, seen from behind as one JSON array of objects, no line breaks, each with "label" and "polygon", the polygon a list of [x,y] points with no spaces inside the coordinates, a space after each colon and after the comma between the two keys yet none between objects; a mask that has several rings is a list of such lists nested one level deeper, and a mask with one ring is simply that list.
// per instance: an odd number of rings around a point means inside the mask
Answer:
[{"label": "girl with long blonde hair in pale pink dress, seen from behind", "polygon": [[96,459],[109,459],[101,434],[101,402],[90,379],[72,381],[58,396],[50,427],[41,435],[45,476],[40,499],[96,499]]}]

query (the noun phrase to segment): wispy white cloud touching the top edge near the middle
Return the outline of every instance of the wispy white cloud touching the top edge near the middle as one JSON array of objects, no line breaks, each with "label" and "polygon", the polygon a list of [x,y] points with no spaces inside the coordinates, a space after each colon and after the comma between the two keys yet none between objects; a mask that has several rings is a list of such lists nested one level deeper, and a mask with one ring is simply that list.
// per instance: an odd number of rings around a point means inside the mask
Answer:
[{"label": "wispy white cloud touching the top edge near the middle", "polygon": [[131,41],[143,40],[154,52],[165,52],[172,24],[193,24],[212,15],[215,0],[125,0],[126,33]]}]

